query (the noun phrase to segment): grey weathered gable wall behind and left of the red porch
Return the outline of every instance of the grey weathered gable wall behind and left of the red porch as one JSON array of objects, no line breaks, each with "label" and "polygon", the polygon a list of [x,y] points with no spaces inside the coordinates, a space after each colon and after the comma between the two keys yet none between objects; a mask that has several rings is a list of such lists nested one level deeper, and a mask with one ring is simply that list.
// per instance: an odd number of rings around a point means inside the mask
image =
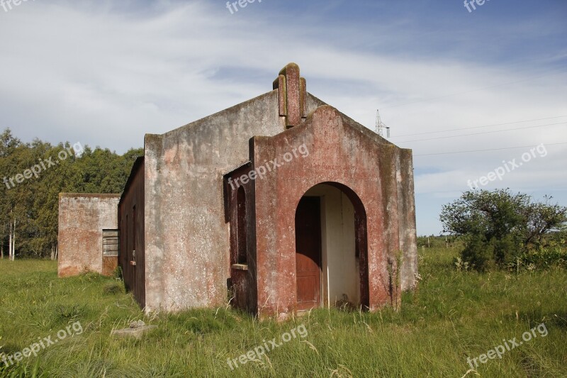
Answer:
[{"label": "grey weathered gable wall behind and left of the red porch", "polygon": [[[322,102],[307,95],[307,111]],[[249,159],[249,139],[286,130],[279,91],[145,138],[146,310],[227,299],[230,225],[223,174]]]}]

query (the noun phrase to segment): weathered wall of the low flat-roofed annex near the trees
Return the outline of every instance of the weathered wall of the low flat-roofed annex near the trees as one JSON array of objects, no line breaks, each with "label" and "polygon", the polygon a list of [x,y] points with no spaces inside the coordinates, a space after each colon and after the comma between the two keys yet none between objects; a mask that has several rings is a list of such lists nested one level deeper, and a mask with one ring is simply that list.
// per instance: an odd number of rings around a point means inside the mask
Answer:
[{"label": "weathered wall of the low flat-roofed annex near the trees", "polygon": [[59,277],[112,273],[118,257],[103,264],[102,230],[118,228],[119,200],[120,194],[59,195]]}]

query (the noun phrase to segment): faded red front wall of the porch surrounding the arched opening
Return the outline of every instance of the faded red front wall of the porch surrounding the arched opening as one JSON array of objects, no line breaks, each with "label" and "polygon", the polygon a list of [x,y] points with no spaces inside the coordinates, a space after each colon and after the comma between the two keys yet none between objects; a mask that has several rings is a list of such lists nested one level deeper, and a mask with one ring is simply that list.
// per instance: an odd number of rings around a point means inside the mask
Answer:
[{"label": "faded red front wall of the porch surrounding the arched opening", "polygon": [[[361,264],[364,260],[368,264],[367,306],[375,310],[398,301],[400,284],[391,292],[391,282],[398,279],[390,277],[388,262],[395,261],[396,251],[400,250],[400,234],[415,232],[415,221],[409,230],[400,228],[410,226],[412,217],[402,217],[404,223],[398,213],[400,207],[414,213],[412,202],[408,201],[408,196],[412,196],[408,174],[412,176],[412,172],[408,170],[411,162],[406,160],[411,155],[403,154],[403,150],[336,109],[321,106],[308,121],[286,133],[273,138],[254,137],[253,166],[258,169],[275,158],[281,161],[286,153],[301,145],[310,152],[308,157],[295,157],[254,182],[259,312],[263,316],[286,317],[294,311],[295,212],[305,192],[325,182],[352,189],[366,211],[367,245]],[[405,167],[404,172],[400,172],[401,167]],[[405,188],[400,188],[404,180]],[[405,238],[403,251],[408,261],[417,254],[411,240],[410,236]],[[408,265],[403,272],[412,273],[412,266]]]}]

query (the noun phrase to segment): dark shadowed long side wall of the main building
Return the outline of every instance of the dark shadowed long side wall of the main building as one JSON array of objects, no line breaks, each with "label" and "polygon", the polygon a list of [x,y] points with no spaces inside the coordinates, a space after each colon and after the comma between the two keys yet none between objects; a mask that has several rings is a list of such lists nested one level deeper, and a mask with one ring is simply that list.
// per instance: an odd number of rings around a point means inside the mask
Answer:
[{"label": "dark shadowed long side wall of the main building", "polygon": [[124,284],[145,307],[144,158],[136,160],[118,205],[120,257]]}]

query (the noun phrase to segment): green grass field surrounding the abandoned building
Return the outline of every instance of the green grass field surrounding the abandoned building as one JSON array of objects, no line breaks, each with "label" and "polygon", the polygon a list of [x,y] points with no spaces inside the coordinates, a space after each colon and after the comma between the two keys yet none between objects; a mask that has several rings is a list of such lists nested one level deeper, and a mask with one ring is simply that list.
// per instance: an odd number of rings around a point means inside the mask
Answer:
[{"label": "green grass field surrounding the abandoned building", "polygon": [[[58,279],[55,262],[0,260],[0,345],[6,355],[56,338],[77,322],[82,328],[8,372],[0,362],[0,375],[32,377],[35,367],[38,377],[567,377],[565,269],[458,272],[456,250],[420,253],[422,282],[416,293],[404,294],[400,311],[320,309],[286,323],[259,322],[230,308],[148,318],[116,279]],[[137,319],[158,328],[142,340],[110,335]],[[229,358],[298,326],[305,326],[304,338],[229,367]],[[477,360],[479,367],[470,371],[468,357],[513,338],[522,345],[502,358]]]}]

